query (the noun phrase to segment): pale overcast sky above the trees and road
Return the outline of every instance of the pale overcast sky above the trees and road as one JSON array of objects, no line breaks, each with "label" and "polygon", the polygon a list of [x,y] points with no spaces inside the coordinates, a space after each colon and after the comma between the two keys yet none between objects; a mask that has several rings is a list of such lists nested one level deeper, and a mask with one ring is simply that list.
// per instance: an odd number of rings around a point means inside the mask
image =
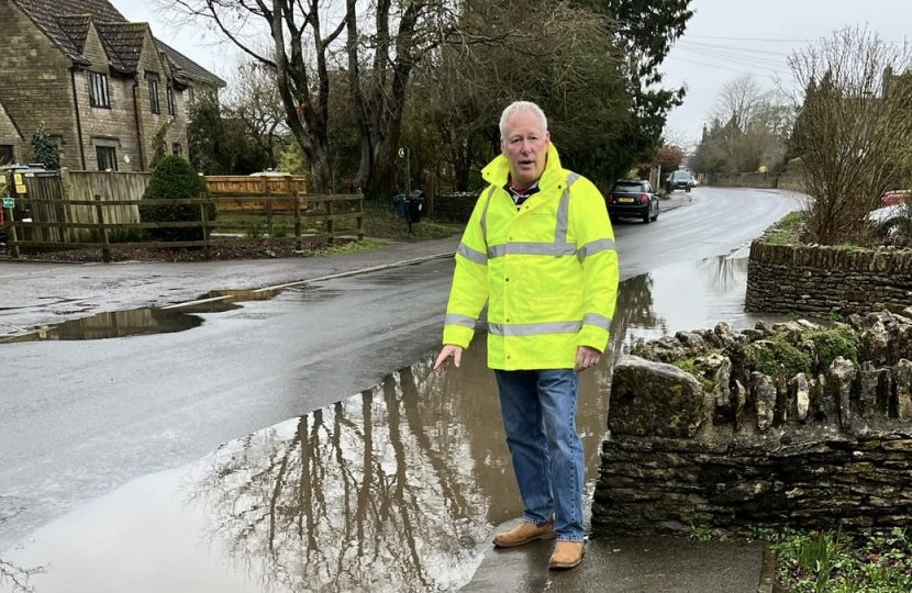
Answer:
[{"label": "pale overcast sky above the trees and road", "polygon": [[[657,0],[658,1],[658,0]],[[127,19],[148,22],[157,37],[213,72],[230,76],[233,52],[202,27],[177,26],[152,0],[111,0]],[[672,136],[700,137],[725,82],[749,72],[763,87],[789,81],[788,55],[846,25],[867,26],[903,42],[912,0],[693,0],[697,11],[663,66],[667,86],[687,85],[683,105],[668,119]]]}]

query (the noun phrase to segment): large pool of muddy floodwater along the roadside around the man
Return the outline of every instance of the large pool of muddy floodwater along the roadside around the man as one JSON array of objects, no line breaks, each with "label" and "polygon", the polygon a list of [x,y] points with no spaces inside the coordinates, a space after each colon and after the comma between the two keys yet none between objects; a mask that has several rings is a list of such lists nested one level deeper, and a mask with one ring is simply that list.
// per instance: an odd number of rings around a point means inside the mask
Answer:
[{"label": "large pool of muddy floodwater along the roadside around the man", "polygon": [[[746,265],[720,257],[622,284],[612,356],[580,376],[587,502],[611,359],[641,338],[770,321],[742,311]],[[459,369],[435,374],[429,350],[372,389],[134,480],[3,552],[5,570],[35,593],[454,591],[522,512],[479,338]]]}]

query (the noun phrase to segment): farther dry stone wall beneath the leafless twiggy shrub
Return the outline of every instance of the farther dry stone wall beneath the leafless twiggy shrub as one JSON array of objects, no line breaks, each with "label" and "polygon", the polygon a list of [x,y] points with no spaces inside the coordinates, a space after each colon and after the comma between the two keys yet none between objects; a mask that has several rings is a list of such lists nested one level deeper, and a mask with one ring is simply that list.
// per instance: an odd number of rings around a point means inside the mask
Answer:
[{"label": "farther dry stone wall beneath the leafless twiggy shrub", "polygon": [[900,312],[912,304],[912,250],[750,246],[745,309],[826,316]]}]

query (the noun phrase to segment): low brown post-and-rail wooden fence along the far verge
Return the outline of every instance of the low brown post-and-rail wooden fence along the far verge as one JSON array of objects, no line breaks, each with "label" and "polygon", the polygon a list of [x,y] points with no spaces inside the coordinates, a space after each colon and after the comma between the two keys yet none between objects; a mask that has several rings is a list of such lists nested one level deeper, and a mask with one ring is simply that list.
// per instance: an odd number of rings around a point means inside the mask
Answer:
[{"label": "low brown post-and-rail wooden fence along the far verge", "polygon": [[[258,203],[263,204],[262,210],[244,209],[244,214],[247,217],[254,217],[262,221],[263,225],[253,224],[249,221],[210,221],[208,220],[208,205],[215,204],[216,212],[220,203]],[[305,211],[304,205],[319,204],[320,208],[311,211]],[[140,205],[198,205],[200,209],[199,221],[188,222],[116,222],[112,221],[111,212],[115,209],[127,206],[134,209],[138,214]],[[73,208],[82,208],[93,211],[94,216],[92,222],[71,222],[58,217],[54,222],[36,222],[34,219],[30,222],[18,217],[16,213],[23,210],[31,210],[32,212],[43,211],[44,209],[64,209],[67,211]],[[70,210],[71,211],[71,210]],[[59,200],[37,197],[34,193],[29,193],[27,198],[15,198],[13,208],[5,208],[7,214],[3,230],[8,234],[7,244],[13,257],[19,257],[20,249],[82,249],[82,248],[100,248],[103,251],[104,261],[111,260],[112,245],[119,245],[126,248],[169,248],[169,247],[202,247],[205,257],[210,257],[210,248],[213,245],[219,245],[220,242],[232,240],[243,243],[259,243],[259,242],[294,242],[296,248],[301,248],[303,243],[311,243],[318,240],[326,240],[333,243],[333,239],[338,236],[357,234],[358,240],[364,239],[364,197],[362,194],[335,194],[335,195],[318,195],[308,194],[307,200],[298,192],[273,193],[270,195],[260,195],[244,191],[221,191],[213,192],[211,198],[190,198],[183,200],[177,199],[159,199],[159,200],[104,200],[101,195],[96,195],[93,200]],[[218,216],[216,216],[218,219]],[[356,230],[337,231],[335,222],[340,220],[352,219],[357,223]],[[308,232],[314,223],[325,223],[323,232]],[[283,233],[276,233],[276,230],[281,225],[286,231]],[[214,228],[220,231],[240,231],[247,236],[232,236],[219,237],[212,236]],[[257,233],[251,233],[252,228],[262,228],[263,236]],[[287,230],[292,232],[288,233]],[[111,234],[114,231],[120,233],[129,232],[131,230],[148,230],[148,228],[200,228],[202,239],[200,240],[180,240],[180,242],[160,242],[160,240],[143,240],[143,242],[126,242],[113,243]],[[51,237],[46,231],[56,231],[56,239]],[[80,232],[81,233],[78,233]],[[88,233],[86,233],[88,231]],[[66,237],[74,236],[78,233],[79,236],[89,235],[89,239],[79,239],[76,242],[67,240]],[[286,235],[286,236],[276,236]],[[93,238],[93,239],[92,239]]]}]

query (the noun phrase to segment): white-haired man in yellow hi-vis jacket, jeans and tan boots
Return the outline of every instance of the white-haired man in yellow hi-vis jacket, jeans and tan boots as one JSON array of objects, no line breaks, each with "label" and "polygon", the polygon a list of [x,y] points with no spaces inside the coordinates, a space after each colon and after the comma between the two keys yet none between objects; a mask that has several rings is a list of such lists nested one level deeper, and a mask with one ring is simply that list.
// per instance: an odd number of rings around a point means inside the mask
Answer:
[{"label": "white-haired man in yellow hi-vis jacket, jeans and tan boots", "polygon": [[434,369],[458,367],[488,303],[488,366],[494,370],[507,444],[523,501],[522,523],[494,537],[502,548],[557,539],[548,567],[580,563],[582,444],[577,373],[608,345],[618,256],[604,199],[560,167],[547,120],[518,101],[500,120],[502,155],[456,253],[443,344]]}]

